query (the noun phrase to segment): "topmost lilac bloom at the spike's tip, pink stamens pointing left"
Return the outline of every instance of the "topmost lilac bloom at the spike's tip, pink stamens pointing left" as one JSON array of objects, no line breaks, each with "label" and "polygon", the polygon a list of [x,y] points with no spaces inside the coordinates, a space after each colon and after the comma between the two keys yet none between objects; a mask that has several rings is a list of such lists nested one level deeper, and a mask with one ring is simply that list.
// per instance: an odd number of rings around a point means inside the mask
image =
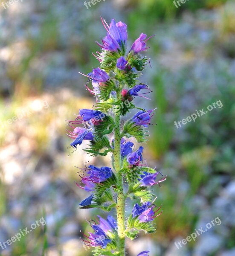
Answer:
[{"label": "topmost lilac bloom at the spike's tip, pink stamens pointing left", "polygon": [[122,22],[116,23],[114,19],[112,19],[110,26],[107,25],[105,20],[102,20],[102,23],[107,30],[107,35],[103,38],[102,44],[98,44],[105,50],[111,52],[117,52],[120,47],[126,45],[127,41],[127,25]]}]

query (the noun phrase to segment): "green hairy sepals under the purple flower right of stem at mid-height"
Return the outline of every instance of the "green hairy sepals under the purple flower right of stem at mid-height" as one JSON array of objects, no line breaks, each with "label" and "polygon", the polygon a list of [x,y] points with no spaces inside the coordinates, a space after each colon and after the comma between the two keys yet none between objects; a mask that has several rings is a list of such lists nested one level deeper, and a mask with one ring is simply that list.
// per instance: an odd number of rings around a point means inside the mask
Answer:
[{"label": "green hairy sepals under the purple flower right of stem at mid-height", "polygon": [[[135,122],[133,122],[131,119],[128,120],[124,127],[123,131],[121,134],[121,137],[127,136],[133,136],[136,138],[137,142],[143,143],[146,142],[147,140],[145,139],[145,130],[142,125],[136,125]],[[128,136],[129,135],[129,136]]]}]

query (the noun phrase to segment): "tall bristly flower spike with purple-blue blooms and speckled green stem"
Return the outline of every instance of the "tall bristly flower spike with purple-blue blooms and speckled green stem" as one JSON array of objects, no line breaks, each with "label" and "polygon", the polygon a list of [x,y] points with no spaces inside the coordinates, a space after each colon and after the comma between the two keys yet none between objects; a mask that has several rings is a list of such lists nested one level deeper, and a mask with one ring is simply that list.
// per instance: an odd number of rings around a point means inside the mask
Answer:
[{"label": "tall bristly flower spike with purple-blue blooms and speckled green stem", "polygon": [[[134,150],[131,142],[133,138],[138,143],[147,141],[147,128],[154,114],[154,110],[141,109],[133,103],[135,96],[148,99],[145,95],[151,92],[148,85],[138,81],[139,72],[148,62],[140,52],[148,49],[149,38],[142,33],[127,53],[127,25],[116,23],[114,19],[110,25],[105,20],[102,23],[107,35],[102,43],[97,42],[102,51],[93,54],[100,67],[88,75],[83,74],[88,78],[85,87],[96,96],[96,105],[90,110],[81,109],[74,121],[68,121],[73,130],[67,135],[74,139],[70,144],[73,148],[89,140],[90,144],[84,149],[88,154],[94,157],[112,155],[111,167],[86,166],[81,169],[80,183],[76,183],[91,193],[79,204],[81,208],[96,207],[106,212],[116,208],[115,218],[108,215],[104,219],[98,215],[96,220],[90,221],[93,232],[84,235],[83,246],[86,250],[92,247],[95,256],[124,256],[125,238],[135,239],[141,230],[155,232],[152,222],[161,214],[161,207],[153,204],[155,196],[151,186],[164,181],[165,177],[157,180],[160,172],[148,167],[142,156],[144,148],[140,146]],[[121,125],[122,116],[131,109],[138,112]],[[127,198],[138,201],[129,217],[125,216]],[[144,251],[138,256],[148,256],[148,253]]]}]

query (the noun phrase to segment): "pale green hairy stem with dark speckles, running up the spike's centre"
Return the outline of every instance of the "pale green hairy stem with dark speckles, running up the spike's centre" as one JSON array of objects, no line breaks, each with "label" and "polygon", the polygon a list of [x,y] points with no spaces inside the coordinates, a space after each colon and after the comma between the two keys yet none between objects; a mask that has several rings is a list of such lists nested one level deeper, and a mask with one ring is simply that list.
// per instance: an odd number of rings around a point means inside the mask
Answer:
[{"label": "pale green hairy stem with dark speckles, running up the spike's centre", "polygon": [[120,134],[120,116],[116,113],[115,116],[116,128],[114,129],[114,150],[113,150],[113,159],[114,167],[117,174],[117,223],[118,223],[118,249],[121,253],[120,256],[125,256],[125,197],[123,193],[123,180],[121,169],[121,134]]}]

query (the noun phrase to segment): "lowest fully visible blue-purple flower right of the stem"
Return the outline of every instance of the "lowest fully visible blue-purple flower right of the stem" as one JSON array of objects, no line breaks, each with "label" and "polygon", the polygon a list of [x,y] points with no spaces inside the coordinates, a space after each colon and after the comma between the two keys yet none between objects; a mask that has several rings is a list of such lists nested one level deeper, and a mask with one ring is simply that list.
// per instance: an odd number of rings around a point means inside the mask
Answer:
[{"label": "lowest fully visible blue-purple flower right of the stem", "polygon": [[150,206],[150,202],[145,202],[141,206],[139,204],[135,204],[132,210],[132,217],[138,217],[138,220],[140,222],[153,221],[154,218],[161,215],[162,212],[160,212],[160,214],[158,214],[157,216],[155,216],[155,213],[159,211],[162,206],[160,206],[156,211],[153,210],[155,207],[154,205],[151,207]]}]

